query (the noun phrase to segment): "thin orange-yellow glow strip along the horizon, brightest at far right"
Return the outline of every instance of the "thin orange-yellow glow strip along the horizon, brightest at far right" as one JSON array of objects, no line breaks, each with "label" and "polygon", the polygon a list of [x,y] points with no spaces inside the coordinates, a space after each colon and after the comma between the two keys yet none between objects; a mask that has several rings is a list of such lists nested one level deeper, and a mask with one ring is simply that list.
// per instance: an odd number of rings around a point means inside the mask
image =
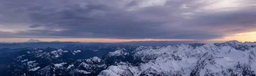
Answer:
[{"label": "thin orange-yellow glow strip along the horizon, brightest at far right", "polygon": [[248,33],[239,34],[228,34],[222,39],[104,39],[104,38],[0,38],[0,42],[24,42],[29,39],[38,39],[41,41],[61,41],[61,42],[133,42],[133,41],[198,41],[202,43],[215,43],[215,42],[227,42],[229,40],[238,40],[240,42],[255,42],[256,41],[256,31]]}]

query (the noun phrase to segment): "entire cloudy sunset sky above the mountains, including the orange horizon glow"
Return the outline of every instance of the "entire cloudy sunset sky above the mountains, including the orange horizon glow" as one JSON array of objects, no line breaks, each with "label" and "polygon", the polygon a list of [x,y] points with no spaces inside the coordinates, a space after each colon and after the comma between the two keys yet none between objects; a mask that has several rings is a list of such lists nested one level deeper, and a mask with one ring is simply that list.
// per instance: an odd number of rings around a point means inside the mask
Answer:
[{"label": "entire cloudy sunset sky above the mountains, including the orange horizon glow", "polygon": [[256,0],[0,0],[0,42],[256,41]]}]

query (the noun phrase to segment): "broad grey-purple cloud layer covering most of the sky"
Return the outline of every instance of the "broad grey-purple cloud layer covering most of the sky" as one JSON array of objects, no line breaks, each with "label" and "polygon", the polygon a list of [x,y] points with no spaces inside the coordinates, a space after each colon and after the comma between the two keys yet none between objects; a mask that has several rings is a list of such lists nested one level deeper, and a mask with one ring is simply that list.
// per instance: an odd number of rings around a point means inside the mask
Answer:
[{"label": "broad grey-purple cloud layer covering most of the sky", "polygon": [[[8,0],[1,2],[4,11],[0,14],[6,18],[0,18],[5,20],[1,23],[27,23],[29,28],[43,28],[0,34],[19,38],[213,39],[223,37],[225,34],[221,32],[232,34],[256,28],[253,7],[194,12],[204,5],[192,4],[193,1],[167,0],[163,5],[146,6],[140,0],[124,5],[118,0]],[[182,7],[184,4],[186,8]],[[233,28],[241,25],[244,28]]]}]

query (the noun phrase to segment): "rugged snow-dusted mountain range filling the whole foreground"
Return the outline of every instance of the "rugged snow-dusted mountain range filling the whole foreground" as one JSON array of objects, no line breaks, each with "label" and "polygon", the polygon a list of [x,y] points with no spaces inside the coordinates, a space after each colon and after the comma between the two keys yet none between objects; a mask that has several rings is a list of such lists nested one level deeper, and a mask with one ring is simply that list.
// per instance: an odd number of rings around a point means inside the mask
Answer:
[{"label": "rugged snow-dusted mountain range filling the whole foreground", "polygon": [[236,40],[20,48],[1,54],[0,59],[2,76],[256,76],[256,42]]}]

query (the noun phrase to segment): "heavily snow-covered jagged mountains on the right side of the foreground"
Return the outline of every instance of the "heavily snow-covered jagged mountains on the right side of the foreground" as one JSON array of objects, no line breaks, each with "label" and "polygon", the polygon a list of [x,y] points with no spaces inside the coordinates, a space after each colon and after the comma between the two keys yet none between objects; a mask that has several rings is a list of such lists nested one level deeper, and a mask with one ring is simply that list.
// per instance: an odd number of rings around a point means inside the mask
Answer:
[{"label": "heavily snow-covered jagged mountains on the right side of the foreground", "polygon": [[[235,73],[242,73],[241,68],[236,68],[238,65],[242,65],[240,67],[243,68],[249,66],[247,68],[256,71],[256,47],[251,47],[255,44],[233,40],[220,46],[205,44],[196,48],[189,45],[162,48],[140,46],[133,51],[133,56],[134,59],[141,59],[145,63],[141,63],[139,66],[112,65],[99,73],[99,76],[129,76],[127,75],[129,72],[133,73],[134,76],[139,76],[142,73],[145,76],[158,76],[158,74],[164,73],[189,76],[192,71],[199,71],[200,76],[209,74],[225,76],[225,73],[230,75],[229,69]],[[247,49],[244,50],[244,47]],[[123,55],[123,53],[122,51],[114,51],[111,52],[111,55],[118,56]]]}]

